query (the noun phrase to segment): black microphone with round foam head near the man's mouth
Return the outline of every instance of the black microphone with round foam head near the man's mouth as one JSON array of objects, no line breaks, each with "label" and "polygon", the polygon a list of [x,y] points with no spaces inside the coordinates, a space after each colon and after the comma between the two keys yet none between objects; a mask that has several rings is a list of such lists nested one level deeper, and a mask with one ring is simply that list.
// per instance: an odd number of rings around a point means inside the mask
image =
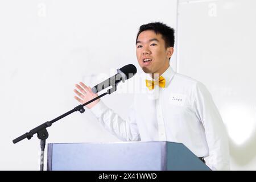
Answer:
[{"label": "black microphone with round foam head near the man's mouth", "polygon": [[112,86],[112,89],[110,89],[110,93],[117,90],[117,85],[120,81],[125,82],[125,80],[133,77],[137,73],[137,68],[133,64],[127,64],[124,67],[117,69],[117,74],[114,76],[106,79],[105,81],[102,81],[100,84],[93,86],[92,92],[98,93],[101,90],[104,90],[105,88],[108,88],[109,86]]}]

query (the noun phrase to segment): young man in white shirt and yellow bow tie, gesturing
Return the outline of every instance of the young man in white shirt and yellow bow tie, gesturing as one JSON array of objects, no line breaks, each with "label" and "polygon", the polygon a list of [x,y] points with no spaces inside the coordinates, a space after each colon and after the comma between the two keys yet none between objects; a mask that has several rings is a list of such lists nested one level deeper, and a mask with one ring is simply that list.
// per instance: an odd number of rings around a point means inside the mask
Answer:
[{"label": "young man in white shirt and yellow bow tie, gesturing", "polygon": [[[228,137],[212,96],[201,82],[170,67],[174,30],[159,22],[144,24],[136,47],[138,63],[147,73],[143,86],[148,93],[135,94],[129,118],[122,119],[100,100],[87,107],[119,139],[183,143],[199,158],[209,156],[211,169],[228,170]],[[79,96],[75,98],[81,104],[97,96],[82,82],[76,87],[80,92],[74,90]]]}]

